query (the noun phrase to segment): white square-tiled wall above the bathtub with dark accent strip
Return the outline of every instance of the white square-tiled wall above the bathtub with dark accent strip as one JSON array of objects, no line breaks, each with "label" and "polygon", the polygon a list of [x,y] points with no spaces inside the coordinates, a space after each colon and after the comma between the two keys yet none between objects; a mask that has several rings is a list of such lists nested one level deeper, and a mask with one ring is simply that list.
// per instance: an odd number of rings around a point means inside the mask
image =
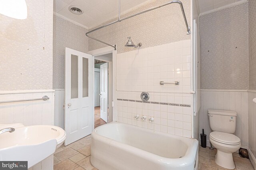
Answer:
[{"label": "white square-tiled wall above the bathtub with dark accent strip", "polygon": [[[190,40],[184,40],[118,54],[118,121],[191,137],[190,50]],[[160,81],[180,85],[160,85]],[[143,91],[150,94],[146,103],[140,99]],[[135,114],[154,121],[136,120]]]}]

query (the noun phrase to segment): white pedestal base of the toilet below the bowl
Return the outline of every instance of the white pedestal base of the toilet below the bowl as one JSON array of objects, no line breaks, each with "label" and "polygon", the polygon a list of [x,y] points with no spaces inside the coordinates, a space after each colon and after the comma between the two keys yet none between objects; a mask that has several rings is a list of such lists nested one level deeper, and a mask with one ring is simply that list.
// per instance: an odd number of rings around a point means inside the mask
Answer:
[{"label": "white pedestal base of the toilet below the bowl", "polygon": [[217,149],[217,153],[215,155],[215,162],[219,166],[227,169],[236,168],[232,153],[223,152]]}]

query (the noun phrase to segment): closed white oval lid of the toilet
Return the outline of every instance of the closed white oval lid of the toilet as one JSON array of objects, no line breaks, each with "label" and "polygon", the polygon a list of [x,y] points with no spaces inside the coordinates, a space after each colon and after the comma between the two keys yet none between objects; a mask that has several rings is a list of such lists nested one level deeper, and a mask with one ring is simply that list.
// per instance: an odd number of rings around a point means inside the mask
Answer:
[{"label": "closed white oval lid of the toilet", "polygon": [[210,137],[219,143],[230,144],[230,145],[237,145],[240,143],[239,137],[230,133],[223,133],[223,132],[212,132],[210,133]]}]

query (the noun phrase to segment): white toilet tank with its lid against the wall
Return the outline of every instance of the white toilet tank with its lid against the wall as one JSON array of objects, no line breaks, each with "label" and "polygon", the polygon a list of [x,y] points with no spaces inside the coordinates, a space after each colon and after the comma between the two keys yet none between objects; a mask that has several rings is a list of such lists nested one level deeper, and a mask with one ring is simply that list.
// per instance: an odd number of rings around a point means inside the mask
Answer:
[{"label": "white toilet tank with its lid against the wall", "polygon": [[233,134],[236,131],[236,115],[237,113],[231,110],[208,109],[210,128],[212,131]]}]

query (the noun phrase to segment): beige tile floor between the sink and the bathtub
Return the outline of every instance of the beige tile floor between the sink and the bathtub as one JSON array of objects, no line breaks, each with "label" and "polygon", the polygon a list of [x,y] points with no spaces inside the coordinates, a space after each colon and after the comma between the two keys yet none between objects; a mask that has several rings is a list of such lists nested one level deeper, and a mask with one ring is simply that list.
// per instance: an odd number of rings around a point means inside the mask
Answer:
[{"label": "beige tile floor between the sink and the bathtub", "polygon": [[54,170],[97,170],[90,163],[91,135],[66,147],[62,145],[54,153]]}]

